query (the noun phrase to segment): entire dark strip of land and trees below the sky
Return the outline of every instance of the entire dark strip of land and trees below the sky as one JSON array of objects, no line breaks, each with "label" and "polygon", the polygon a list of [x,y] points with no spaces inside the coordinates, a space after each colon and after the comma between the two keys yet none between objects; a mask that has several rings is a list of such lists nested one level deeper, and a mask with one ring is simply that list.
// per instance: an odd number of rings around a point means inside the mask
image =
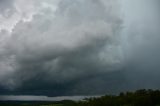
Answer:
[{"label": "entire dark strip of land and trees below the sky", "polygon": [[0,106],[160,106],[160,91],[143,89],[79,102],[0,102]]}]

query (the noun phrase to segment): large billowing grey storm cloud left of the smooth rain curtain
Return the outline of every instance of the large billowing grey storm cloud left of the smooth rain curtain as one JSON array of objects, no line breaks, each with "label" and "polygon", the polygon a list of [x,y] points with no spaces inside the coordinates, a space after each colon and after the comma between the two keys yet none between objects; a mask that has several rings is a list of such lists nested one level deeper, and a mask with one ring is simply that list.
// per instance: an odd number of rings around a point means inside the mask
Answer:
[{"label": "large billowing grey storm cloud left of the smooth rain curtain", "polygon": [[53,6],[41,0],[33,5],[39,7],[32,18],[18,21],[1,41],[1,86],[16,89],[33,80],[65,85],[122,66],[117,0],[55,0]]}]

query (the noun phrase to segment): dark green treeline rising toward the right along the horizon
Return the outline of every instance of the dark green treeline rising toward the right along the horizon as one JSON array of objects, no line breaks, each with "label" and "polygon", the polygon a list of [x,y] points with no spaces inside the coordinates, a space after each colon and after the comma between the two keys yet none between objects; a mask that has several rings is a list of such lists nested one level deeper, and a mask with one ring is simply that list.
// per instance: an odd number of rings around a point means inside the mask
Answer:
[{"label": "dark green treeline rising toward the right along the horizon", "polygon": [[[71,105],[70,105],[71,106]],[[72,106],[160,106],[159,90],[137,90],[99,98],[85,99]]]}]

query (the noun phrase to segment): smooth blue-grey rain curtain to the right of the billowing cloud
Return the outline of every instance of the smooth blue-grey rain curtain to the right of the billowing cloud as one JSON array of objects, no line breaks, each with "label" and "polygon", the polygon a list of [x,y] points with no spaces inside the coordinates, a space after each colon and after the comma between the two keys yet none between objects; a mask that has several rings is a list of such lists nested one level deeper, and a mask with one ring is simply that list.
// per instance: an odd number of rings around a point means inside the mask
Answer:
[{"label": "smooth blue-grey rain curtain to the right of the billowing cloud", "polygon": [[[131,4],[130,4],[131,5]],[[128,89],[160,86],[160,21],[159,1],[135,1],[127,7],[125,39],[125,76]],[[136,9],[133,7],[137,6]],[[123,40],[124,42],[124,40]]]}]

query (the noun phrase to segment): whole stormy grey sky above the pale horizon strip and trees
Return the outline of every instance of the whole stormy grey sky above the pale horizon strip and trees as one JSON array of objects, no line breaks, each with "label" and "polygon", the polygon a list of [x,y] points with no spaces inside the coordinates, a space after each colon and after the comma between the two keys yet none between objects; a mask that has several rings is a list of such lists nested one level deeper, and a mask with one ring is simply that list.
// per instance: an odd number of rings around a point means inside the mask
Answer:
[{"label": "whole stormy grey sky above the pale horizon strip and trees", "polygon": [[159,0],[0,0],[0,95],[160,88]]}]

